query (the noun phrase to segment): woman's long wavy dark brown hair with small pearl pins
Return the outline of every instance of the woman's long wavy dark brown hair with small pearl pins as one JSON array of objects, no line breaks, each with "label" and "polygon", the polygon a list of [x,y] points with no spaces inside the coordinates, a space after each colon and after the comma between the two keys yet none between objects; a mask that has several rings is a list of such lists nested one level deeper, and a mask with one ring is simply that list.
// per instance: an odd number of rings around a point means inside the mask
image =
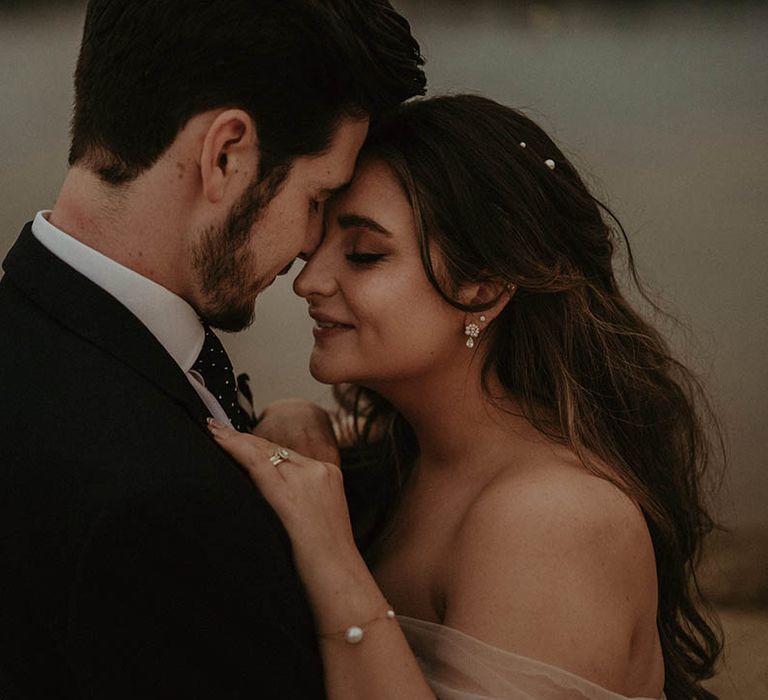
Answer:
[{"label": "woman's long wavy dark brown hair with small pearl pins", "polygon": [[[481,337],[486,393],[498,398],[486,381],[498,377],[532,425],[642,509],[658,571],[665,692],[670,700],[714,698],[701,681],[713,675],[722,645],[701,612],[695,567],[713,527],[703,484],[714,453],[724,454],[721,433],[697,378],[619,289],[612,261],[623,240],[630,278],[650,302],[624,229],[536,124],[489,99],[403,105],[375,125],[362,157],[384,161],[399,180],[424,269],[448,303],[490,306],[456,300],[467,281],[516,285]],[[341,424],[354,432],[345,463],[368,474],[378,465],[388,484],[387,497],[374,499],[386,507],[368,509],[365,547],[391,513],[418,444],[376,393],[345,385],[336,396]]]}]

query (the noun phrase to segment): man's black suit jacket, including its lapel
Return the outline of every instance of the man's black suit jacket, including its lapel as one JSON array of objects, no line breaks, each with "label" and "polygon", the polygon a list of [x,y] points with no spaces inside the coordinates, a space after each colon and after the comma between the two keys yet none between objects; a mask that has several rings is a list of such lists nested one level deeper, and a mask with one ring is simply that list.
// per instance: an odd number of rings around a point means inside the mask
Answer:
[{"label": "man's black suit jacket, including its lapel", "polygon": [[0,280],[0,676],[21,698],[317,698],[277,516],[155,337],[27,225]]}]

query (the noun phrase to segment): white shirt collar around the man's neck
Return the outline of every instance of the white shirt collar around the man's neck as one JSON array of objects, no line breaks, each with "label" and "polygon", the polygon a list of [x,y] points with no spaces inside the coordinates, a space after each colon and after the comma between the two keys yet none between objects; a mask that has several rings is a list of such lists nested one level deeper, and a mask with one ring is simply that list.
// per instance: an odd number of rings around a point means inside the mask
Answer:
[{"label": "white shirt collar around the man's neck", "polygon": [[165,287],[76,240],[38,212],[32,233],[54,255],[123,304],[157,338],[184,372],[195,363],[205,331],[195,310]]}]

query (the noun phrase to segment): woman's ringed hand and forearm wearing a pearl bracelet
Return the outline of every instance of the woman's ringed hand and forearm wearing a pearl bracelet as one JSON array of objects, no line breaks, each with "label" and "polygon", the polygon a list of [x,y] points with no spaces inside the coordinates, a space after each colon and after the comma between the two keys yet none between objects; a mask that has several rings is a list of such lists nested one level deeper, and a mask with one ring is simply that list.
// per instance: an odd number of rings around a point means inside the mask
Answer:
[{"label": "woman's ringed hand and forearm wearing a pearl bracelet", "polygon": [[[245,467],[288,531],[320,638],[328,698],[365,697],[373,687],[380,698],[434,700],[402,630],[392,620],[389,603],[355,546],[341,469],[213,420],[208,425],[222,449]],[[379,621],[374,636],[373,623]],[[361,652],[348,635],[357,633],[360,641],[366,626],[372,639]]]}]

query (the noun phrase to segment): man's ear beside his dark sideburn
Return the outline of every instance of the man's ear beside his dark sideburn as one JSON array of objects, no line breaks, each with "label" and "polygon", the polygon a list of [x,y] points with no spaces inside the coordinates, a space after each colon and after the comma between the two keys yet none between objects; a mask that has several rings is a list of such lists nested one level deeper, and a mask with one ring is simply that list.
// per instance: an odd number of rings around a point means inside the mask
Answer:
[{"label": "man's ear beside his dark sideburn", "polygon": [[242,109],[219,113],[205,132],[200,151],[205,198],[216,204],[228,191],[239,195],[256,177],[258,168],[259,139],[251,116]]}]

